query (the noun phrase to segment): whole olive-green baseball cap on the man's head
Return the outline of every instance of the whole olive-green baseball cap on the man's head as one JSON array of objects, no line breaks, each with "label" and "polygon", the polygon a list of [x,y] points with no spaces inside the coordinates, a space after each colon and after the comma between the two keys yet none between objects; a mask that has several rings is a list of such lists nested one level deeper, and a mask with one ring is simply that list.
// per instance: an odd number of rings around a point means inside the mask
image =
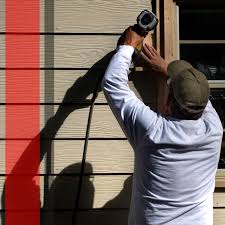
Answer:
[{"label": "whole olive-green baseball cap on the man's head", "polygon": [[167,71],[177,104],[188,114],[201,113],[209,99],[209,84],[205,75],[185,60],[171,62]]}]

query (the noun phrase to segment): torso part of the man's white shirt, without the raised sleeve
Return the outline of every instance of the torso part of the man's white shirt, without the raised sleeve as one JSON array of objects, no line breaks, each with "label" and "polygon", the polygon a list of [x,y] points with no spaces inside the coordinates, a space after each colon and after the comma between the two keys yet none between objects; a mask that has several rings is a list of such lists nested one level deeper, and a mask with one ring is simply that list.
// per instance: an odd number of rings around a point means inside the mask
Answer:
[{"label": "torso part of the man's white shirt, without the raised sleeve", "polygon": [[129,225],[212,224],[221,133],[210,102],[198,120],[158,116],[135,149]]}]

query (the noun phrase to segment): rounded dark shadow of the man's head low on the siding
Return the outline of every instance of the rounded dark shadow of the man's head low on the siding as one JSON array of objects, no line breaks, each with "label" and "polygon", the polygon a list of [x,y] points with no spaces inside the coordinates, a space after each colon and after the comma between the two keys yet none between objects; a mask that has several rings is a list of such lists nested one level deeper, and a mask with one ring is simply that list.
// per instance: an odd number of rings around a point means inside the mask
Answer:
[{"label": "rounded dark shadow of the man's head low on the siding", "polygon": [[[74,213],[78,213],[77,209],[74,210],[74,204],[79,194],[80,170],[81,162],[71,164],[54,178],[48,190],[49,199],[53,201],[48,204],[50,211],[41,214],[41,225],[49,224],[49,221],[54,225],[72,224]],[[88,162],[85,163],[85,173],[93,173],[92,165]],[[95,189],[92,177],[92,175],[84,175],[82,182],[80,202],[87,208],[93,207]]]}]

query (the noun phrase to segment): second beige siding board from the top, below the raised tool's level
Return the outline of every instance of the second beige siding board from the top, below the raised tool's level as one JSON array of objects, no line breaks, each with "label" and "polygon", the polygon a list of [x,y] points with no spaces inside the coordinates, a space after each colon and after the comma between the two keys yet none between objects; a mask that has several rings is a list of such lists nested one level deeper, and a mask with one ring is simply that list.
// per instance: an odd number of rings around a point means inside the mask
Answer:
[{"label": "second beige siding board from the top, below the raised tool's level", "polygon": [[[21,35],[14,35],[15,41],[13,46],[16,48],[20,41]],[[52,36],[48,36],[49,39]],[[23,38],[23,37],[22,37]],[[52,65],[45,63],[44,54],[52,55],[54,52],[54,67],[56,68],[90,68],[98,62],[98,67],[105,67],[105,62],[99,62],[100,59],[113,51],[116,47],[119,36],[117,35],[58,35],[54,36],[54,48],[51,46],[44,49],[44,36],[40,37],[40,67],[52,68]],[[4,39],[5,36],[0,36],[0,67],[4,67]],[[24,38],[23,38],[24,39]],[[30,38],[27,35],[27,42]],[[24,41],[24,40],[23,40]],[[25,48],[26,46],[24,46]],[[32,52],[32,49],[30,49]],[[20,53],[22,54],[22,53]],[[17,64],[24,67],[24,62],[18,53],[15,58]],[[32,57],[31,57],[32,58]],[[50,59],[48,59],[50,61]],[[52,64],[52,63],[51,63]],[[26,63],[27,68],[32,68],[31,62]]]}]

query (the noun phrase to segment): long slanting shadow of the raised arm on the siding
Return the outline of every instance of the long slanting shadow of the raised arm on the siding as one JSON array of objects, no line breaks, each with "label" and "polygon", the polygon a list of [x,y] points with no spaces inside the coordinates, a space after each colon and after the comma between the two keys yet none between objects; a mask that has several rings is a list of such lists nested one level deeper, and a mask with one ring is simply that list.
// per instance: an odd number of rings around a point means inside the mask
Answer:
[{"label": "long slanting shadow of the raised arm on the siding", "polygon": [[[78,80],[74,82],[74,84],[66,91],[65,96],[63,98],[62,103],[59,105],[58,110],[56,113],[47,120],[44,128],[41,130],[40,133],[38,133],[32,140],[30,140],[30,143],[27,145],[26,149],[24,149],[23,154],[19,158],[19,160],[14,165],[11,174],[17,174],[18,172],[21,173],[21,171],[29,171],[29,174],[23,175],[21,174],[19,179],[20,182],[16,182],[13,177],[15,176],[6,176],[5,183],[8,183],[8,187],[16,187],[18,192],[16,193],[17,196],[20,196],[20,191],[24,189],[24,183],[27,184],[27,190],[23,190],[23,193],[27,193],[30,195],[31,198],[36,199],[37,196],[39,198],[39,189],[40,187],[36,185],[34,182],[35,177],[39,176],[39,167],[40,163],[43,161],[44,156],[49,153],[49,151],[52,151],[52,145],[53,140],[56,137],[56,134],[60,127],[63,125],[64,121],[68,118],[68,116],[75,110],[85,108],[90,106],[97,96],[97,93],[101,90],[100,84],[101,79],[105,73],[105,69],[113,56],[114,52],[110,52],[107,55],[105,55],[102,59],[100,59],[98,62],[96,62],[89,70],[86,72],[82,77],[80,77]],[[93,94],[93,98],[91,100],[87,100],[87,97]],[[79,120],[79,118],[77,118]],[[21,149],[19,150],[21,151]],[[62,149],[63,151],[63,149]],[[74,149],[76,151],[76,149]],[[30,160],[34,158],[35,155],[40,153],[40,160],[34,160],[35,162],[31,165]],[[29,167],[27,167],[29,165]],[[87,164],[88,165],[88,164]],[[72,170],[76,173],[77,168],[79,164],[77,165],[71,165],[69,168],[66,168],[65,170]],[[89,165],[91,168],[91,165]],[[89,171],[91,171],[89,169]],[[48,176],[45,174],[45,176]],[[59,180],[59,178],[57,178]],[[17,180],[18,181],[18,180]],[[55,195],[52,195],[52,190],[56,190],[56,182],[52,182],[53,187],[50,187],[50,196],[53,197]],[[62,185],[62,184],[60,184]],[[58,189],[57,189],[58,190]],[[60,188],[62,191],[67,191],[67,185],[65,185],[65,190]],[[46,193],[46,192],[45,192]],[[21,195],[23,196],[23,195]],[[58,196],[58,195],[56,195]],[[16,197],[17,198],[17,197]],[[18,198],[17,198],[18,199]],[[71,197],[72,199],[72,197]],[[92,197],[90,197],[91,201]],[[23,201],[23,199],[21,199]],[[48,205],[51,205],[52,199],[48,198]],[[74,200],[75,201],[75,200]],[[53,200],[55,202],[55,199]],[[56,201],[58,204],[58,201]],[[1,203],[3,209],[5,209],[5,184],[1,196]],[[45,202],[46,204],[46,202]],[[45,206],[44,204],[44,206]],[[63,203],[62,203],[63,204]],[[44,210],[43,210],[44,211]],[[41,210],[42,213],[42,210]],[[5,225],[5,211],[1,213],[1,224]],[[65,224],[65,223],[64,223]]]}]

